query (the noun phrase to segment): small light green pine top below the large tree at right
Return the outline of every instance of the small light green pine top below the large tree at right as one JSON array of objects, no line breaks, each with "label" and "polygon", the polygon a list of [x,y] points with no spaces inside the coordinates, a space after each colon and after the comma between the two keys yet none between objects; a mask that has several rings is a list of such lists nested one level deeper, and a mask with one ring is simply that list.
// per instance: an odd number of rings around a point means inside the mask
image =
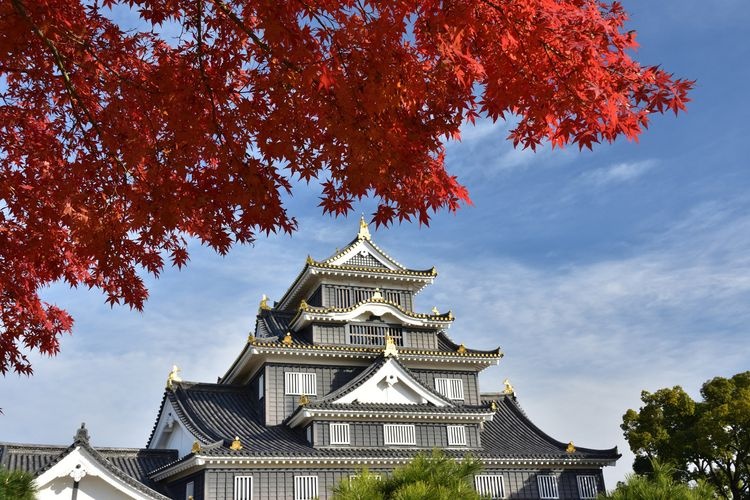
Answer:
[{"label": "small light green pine top below the large tree at right", "polygon": [[675,468],[657,460],[650,462],[650,474],[631,474],[610,495],[611,500],[708,500],[716,498],[714,489],[704,481],[695,487],[675,480]]}]

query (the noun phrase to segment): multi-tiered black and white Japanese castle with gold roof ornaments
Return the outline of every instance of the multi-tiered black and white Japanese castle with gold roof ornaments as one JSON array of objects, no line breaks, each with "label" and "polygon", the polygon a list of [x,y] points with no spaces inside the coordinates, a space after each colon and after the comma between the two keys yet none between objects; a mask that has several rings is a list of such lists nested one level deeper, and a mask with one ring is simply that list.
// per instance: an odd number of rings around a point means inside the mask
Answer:
[{"label": "multi-tiered black and white Japanese castle with gold roof ornaments", "polygon": [[[308,257],[273,305],[264,296],[217,383],[173,370],[145,449],[94,448],[81,429],[68,447],[0,445],[0,465],[35,473],[41,499],[75,487],[79,500],[312,500],[362,468],[388,474],[438,448],[480,458],[488,498],[595,498],[617,449],[552,439],[507,381],[480,393],[479,373],[503,354],[453,342],[450,312],[417,312],[436,274],[396,262],[362,221],[343,249]],[[87,478],[120,496],[87,494]]]}]

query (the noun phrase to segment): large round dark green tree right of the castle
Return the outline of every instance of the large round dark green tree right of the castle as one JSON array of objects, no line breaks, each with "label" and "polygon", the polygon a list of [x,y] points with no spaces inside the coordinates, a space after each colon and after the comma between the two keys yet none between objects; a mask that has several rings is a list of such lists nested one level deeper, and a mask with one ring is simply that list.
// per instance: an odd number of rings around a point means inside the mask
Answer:
[{"label": "large round dark green tree right of the castle", "polygon": [[644,406],[628,410],[621,426],[633,468],[671,462],[680,479],[704,480],[723,498],[750,498],[750,371],[707,381],[701,396],[694,401],[679,386],[641,393]]}]

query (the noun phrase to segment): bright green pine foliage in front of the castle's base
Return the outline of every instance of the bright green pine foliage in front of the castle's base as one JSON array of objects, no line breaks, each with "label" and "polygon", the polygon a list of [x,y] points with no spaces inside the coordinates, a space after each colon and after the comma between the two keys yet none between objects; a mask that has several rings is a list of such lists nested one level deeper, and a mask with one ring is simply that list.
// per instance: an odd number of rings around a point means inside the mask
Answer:
[{"label": "bright green pine foliage in front of the castle's base", "polygon": [[334,488],[334,500],[479,500],[472,478],[482,470],[478,460],[454,460],[440,450],[419,454],[387,478],[363,471]]}]

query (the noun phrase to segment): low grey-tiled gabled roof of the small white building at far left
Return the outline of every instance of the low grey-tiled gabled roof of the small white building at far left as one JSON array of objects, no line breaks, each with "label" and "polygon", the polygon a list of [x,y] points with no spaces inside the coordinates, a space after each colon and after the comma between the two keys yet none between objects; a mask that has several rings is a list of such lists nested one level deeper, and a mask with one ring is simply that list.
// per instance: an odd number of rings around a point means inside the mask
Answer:
[{"label": "low grey-tiled gabled roof of the small white building at far left", "polygon": [[[85,428],[82,428],[85,431]],[[146,498],[166,500],[148,474],[177,460],[176,450],[92,447],[79,430],[70,446],[0,443],[0,466],[41,477],[71,454],[83,453],[103,471],[134,488]]]}]

